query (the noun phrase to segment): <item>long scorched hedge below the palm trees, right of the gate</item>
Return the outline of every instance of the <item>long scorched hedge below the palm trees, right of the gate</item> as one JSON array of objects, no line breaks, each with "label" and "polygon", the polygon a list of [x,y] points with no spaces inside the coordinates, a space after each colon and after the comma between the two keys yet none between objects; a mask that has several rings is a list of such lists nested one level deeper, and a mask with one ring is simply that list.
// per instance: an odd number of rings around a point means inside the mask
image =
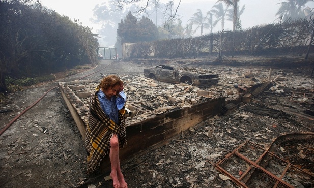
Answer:
[{"label": "long scorched hedge below the palm trees, right of the gate", "polygon": [[123,58],[196,58],[204,55],[264,55],[307,52],[314,30],[308,20],[254,26],[195,38],[123,43]]}]

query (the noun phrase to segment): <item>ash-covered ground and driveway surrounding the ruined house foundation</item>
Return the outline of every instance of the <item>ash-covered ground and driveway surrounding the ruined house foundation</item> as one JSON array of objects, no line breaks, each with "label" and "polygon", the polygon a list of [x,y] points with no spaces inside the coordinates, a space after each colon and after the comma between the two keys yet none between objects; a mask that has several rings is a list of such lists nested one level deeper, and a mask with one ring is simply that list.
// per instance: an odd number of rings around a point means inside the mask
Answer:
[{"label": "ash-covered ground and driveway surrounding the ruined house foundation", "polygon": [[[286,61],[286,65],[282,61]],[[129,187],[237,187],[231,180],[225,180],[214,164],[238,145],[249,140],[267,147],[283,134],[313,132],[313,104],[289,101],[292,92],[314,92],[310,77],[313,64],[300,61],[299,58],[252,57],[226,59],[218,65],[206,59],[162,61],[162,64],[197,66],[226,75],[216,87],[215,92],[220,93],[227,90],[223,85],[232,86],[237,82],[232,75],[241,77],[247,71],[255,75],[260,73],[264,78],[272,68],[273,77],[286,77],[287,80],[273,82],[256,96],[259,99],[253,98],[249,104],[199,123],[166,143],[124,161],[122,171]],[[142,75],[145,67],[159,62],[115,61],[109,65],[110,62],[101,61],[95,69],[59,81],[79,79],[107,65],[103,71],[86,79],[99,80],[105,74],[132,79]],[[10,95],[11,102],[1,105],[1,109],[12,111],[1,114],[1,128],[55,86],[56,82],[51,82]],[[134,92],[130,92],[130,98]],[[277,110],[282,113],[272,115]],[[208,134],[209,130],[211,134]],[[0,136],[0,147],[1,187],[112,186],[110,179],[104,179],[109,174],[86,174],[83,140],[57,88]],[[308,170],[314,172],[312,168]]]}]

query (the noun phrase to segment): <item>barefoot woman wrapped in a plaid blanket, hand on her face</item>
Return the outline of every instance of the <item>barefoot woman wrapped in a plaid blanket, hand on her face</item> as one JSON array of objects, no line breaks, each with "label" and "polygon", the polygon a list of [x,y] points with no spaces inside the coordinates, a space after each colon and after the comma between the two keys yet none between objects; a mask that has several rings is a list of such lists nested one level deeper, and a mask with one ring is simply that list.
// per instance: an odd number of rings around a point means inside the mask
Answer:
[{"label": "barefoot woman wrapped in a plaid blanket, hand on her face", "polygon": [[101,80],[90,97],[86,127],[88,172],[93,172],[109,154],[113,187],[127,187],[120,169],[119,148],[126,144],[123,82],[116,75]]}]

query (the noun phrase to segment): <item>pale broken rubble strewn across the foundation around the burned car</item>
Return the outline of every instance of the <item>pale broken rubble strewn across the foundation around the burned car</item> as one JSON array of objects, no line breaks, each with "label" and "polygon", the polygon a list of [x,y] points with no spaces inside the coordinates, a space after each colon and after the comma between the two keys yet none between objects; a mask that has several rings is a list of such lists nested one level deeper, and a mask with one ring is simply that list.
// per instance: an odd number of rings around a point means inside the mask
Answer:
[{"label": "pale broken rubble strewn across the foundation around the burned car", "polygon": [[[194,68],[189,68],[189,70],[191,69]],[[133,116],[128,117],[127,122],[132,123],[136,120],[143,120],[174,109],[188,108],[191,105],[213,98],[226,97],[226,101],[237,101],[239,98],[238,85],[248,88],[270,79],[271,87],[269,91],[284,93],[284,89],[286,91],[287,89],[291,90],[289,89],[290,85],[291,87],[295,87],[296,82],[300,83],[298,80],[289,80],[286,76],[290,75],[290,73],[284,72],[283,70],[273,71],[267,68],[244,69],[243,67],[209,66],[207,69],[195,68],[195,70],[203,72],[207,70],[207,72],[219,73],[220,81],[217,85],[199,88],[193,86],[193,84],[159,82],[145,78],[144,74],[119,75],[125,83],[124,91],[127,93],[126,107],[128,108],[129,105],[132,105],[147,109],[139,113],[139,115],[135,113]],[[106,76],[106,74],[102,75],[102,77],[104,76]],[[81,85],[84,86],[81,90],[92,92],[100,83],[100,80],[101,79],[81,83]],[[311,85],[310,80],[305,81],[304,79],[301,83],[303,83],[303,88],[310,87]],[[202,94],[204,91],[207,95]],[[253,96],[250,95],[249,98],[252,97]],[[246,98],[242,98],[243,102],[250,102],[250,99],[244,101],[245,99]],[[88,95],[81,98],[81,100],[88,105]]]}]

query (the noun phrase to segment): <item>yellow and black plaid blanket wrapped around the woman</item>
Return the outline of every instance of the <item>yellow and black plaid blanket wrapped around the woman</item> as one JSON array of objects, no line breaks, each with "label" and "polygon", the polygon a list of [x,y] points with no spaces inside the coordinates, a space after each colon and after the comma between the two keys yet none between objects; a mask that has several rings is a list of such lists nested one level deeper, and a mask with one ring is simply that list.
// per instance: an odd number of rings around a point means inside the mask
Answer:
[{"label": "yellow and black plaid blanket wrapped around the woman", "polygon": [[102,110],[97,93],[99,86],[90,97],[88,123],[86,126],[85,147],[88,152],[87,172],[91,173],[100,165],[104,156],[110,151],[110,138],[116,134],[119,139],[119,148],[126,144],[125,108],[119,110],[118,125],[107,117]]}]

